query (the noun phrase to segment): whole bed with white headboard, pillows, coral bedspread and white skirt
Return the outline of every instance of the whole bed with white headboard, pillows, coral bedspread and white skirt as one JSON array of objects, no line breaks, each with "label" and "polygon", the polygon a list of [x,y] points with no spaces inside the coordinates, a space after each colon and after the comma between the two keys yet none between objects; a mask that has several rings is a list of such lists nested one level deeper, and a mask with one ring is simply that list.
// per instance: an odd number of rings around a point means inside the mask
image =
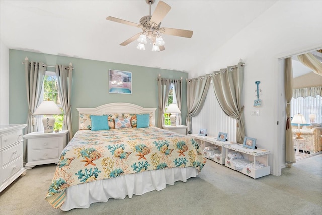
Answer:
[{"label": "whole bed with white headboard, pillows, coral bedspread and white skirt", "polygon": [[162,190],[196,177],[206,159],[193,138],[155,127],[155,108],[110,103],[77,108],[46,200],[63,211]]}]

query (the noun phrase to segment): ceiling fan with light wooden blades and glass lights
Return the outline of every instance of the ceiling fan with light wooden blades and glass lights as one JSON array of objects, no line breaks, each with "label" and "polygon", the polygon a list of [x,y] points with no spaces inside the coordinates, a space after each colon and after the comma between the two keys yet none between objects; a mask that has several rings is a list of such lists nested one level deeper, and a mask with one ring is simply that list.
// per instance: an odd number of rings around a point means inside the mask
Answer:
[{"label": "ceiling fan with light wooden blades and glass lights", "polygon": [[167,35],[187,37],[187,38],[192,37],[193,31],[160,27],[162,19],[167,15],[171,7],[163,1],[159,1],[151,16],[151,5],[155,2],[155,0],[145,0],[145,1],[150,6],[150,15],[142,17],[140,19],[140,24],[122,20],[116,17],[109,16],[106,18],[107,20],[110,20],[110,21],[131,25],[142,29],[143,32],[135,34],[131,38],[122,42],[120,45],[125,46],[133,42],[134,40],[137,40],[139,42],[137,49],[145,50],[144,44],[147,43],[147,39],[148,39],[153,44],[152,51],[163,51],[165,50],[165,47],[164,47],[165,42],[163,41],[160,34],[167,34]]}]

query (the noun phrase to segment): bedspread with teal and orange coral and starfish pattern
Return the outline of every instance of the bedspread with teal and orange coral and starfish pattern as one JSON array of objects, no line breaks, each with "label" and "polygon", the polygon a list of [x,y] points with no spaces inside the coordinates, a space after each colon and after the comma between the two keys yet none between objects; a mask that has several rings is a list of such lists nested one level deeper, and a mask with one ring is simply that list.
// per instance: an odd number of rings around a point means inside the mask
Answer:
[{"label": "bedspread with teal and orange coral and starfish pattern", "polygon": [[61,153],[46,200],[59,208],[68,187],[174,167],[205,165],[193,138],[156,127],[80,130]]}]

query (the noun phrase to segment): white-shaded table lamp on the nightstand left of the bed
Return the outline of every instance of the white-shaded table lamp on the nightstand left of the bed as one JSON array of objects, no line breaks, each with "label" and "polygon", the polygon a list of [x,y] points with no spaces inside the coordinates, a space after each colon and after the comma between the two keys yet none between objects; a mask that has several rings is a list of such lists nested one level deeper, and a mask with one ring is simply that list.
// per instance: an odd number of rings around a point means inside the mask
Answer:
[{"label": "white-shaded table lamp on the nightstand left of the bed", "polygon": [[34,112],[34,115],[46,115],[42,119],[42,123],[44,125],[44,133],[52,133],[54,131],[55,118],[52,116],[53,114],[61,114],[62,111],[56,105],[55,102],[43,101]]}]

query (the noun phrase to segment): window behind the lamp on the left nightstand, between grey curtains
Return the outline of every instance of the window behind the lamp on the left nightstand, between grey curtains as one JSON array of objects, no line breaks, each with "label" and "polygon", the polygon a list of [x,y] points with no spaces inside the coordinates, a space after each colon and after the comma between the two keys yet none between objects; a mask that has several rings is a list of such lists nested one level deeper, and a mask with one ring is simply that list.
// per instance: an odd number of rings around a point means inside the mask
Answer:
[{"label": "window behind the lamp on the left nightstand, between grey curtains", "polygon": [[[40,101],[48,99],[50,101],[54,101],[63,112],[58,94],[57,77],[54,71],[46,71],[42,92],[40,95]],[[54,130],[62,130],[64,114],[56,114],[53,115],[53,117],[55,118]]]}]

